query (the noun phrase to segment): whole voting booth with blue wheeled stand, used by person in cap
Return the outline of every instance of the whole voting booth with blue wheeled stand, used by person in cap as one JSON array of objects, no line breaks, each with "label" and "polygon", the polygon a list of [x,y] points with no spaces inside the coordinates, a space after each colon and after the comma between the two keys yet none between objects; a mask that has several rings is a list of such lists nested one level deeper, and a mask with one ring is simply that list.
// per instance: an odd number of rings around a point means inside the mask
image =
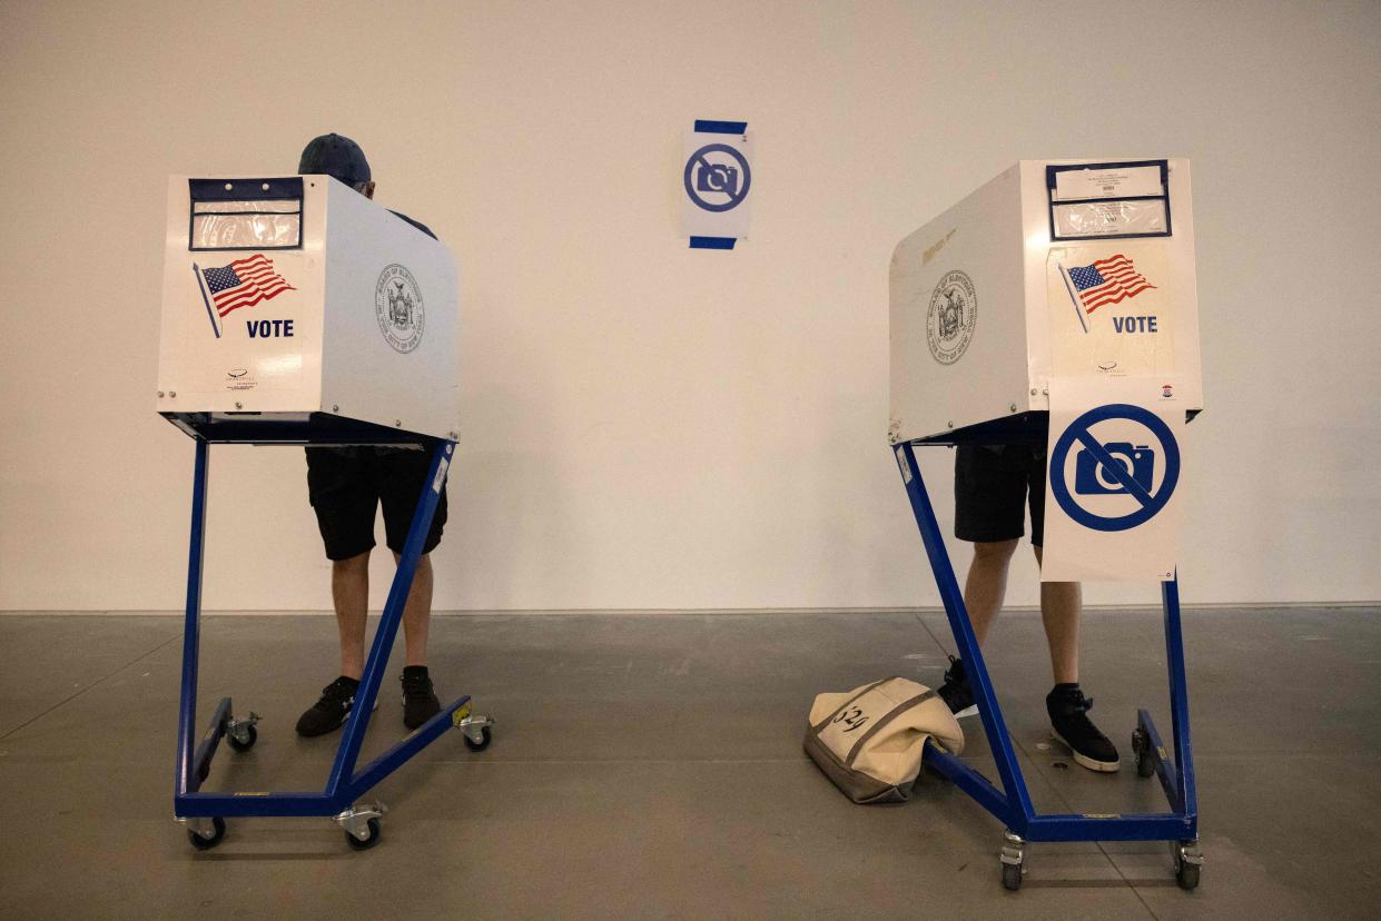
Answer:
[{"label": "whole voting booth with blue wheeled stand, used by person in cap", "polygon": [[[384,808],[360,797],[446,729],[460,729],[471,750],[489,744],[493,721],[463,696],[356,764],[460,436],[457,291],[443,244],[330,177],[168,181],[156,409],[196,442],[174,815],[197,848],[215,845],[232,816],[330,816],[352,846],[371,846]],[[226,697],[200,740],[193,728],[214,443],[392,446],[431,457],[431,487],[322,791],[202,790],[220,741],[250,748],[260,721],[236,715]]]}]

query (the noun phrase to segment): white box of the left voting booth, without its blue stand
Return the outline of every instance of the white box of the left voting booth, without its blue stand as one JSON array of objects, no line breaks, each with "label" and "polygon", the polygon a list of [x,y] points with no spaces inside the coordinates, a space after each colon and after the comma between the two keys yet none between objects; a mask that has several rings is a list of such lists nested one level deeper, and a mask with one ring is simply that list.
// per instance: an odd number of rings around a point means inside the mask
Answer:
[{"label": "white box of the left voting booth, without its blue stand", "polygon": [[157,410],[454,440],[450,251],[325,175],[168,180]]}]

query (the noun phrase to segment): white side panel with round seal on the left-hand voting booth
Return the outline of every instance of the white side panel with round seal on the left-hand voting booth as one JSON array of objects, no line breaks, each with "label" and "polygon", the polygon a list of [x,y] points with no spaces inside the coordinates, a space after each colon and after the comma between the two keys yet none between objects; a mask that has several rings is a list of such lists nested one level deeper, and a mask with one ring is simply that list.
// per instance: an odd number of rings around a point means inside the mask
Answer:
[{"label": "white side panel with round seal on the left-hand voting booth", "polygon": [[450,251],[385,209],[327,184],[322,409],[454,439],[458,279]]}]

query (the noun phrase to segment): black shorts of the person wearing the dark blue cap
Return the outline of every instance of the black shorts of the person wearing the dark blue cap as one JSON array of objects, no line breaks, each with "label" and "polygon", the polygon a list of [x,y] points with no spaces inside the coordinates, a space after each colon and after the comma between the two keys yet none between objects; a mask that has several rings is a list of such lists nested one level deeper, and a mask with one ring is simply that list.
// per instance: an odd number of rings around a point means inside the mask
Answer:
[{"label": "black shorts of the person wearing the dark blue cap", "polygon": [[[417,498],[427,486],[431,452],[373,447],[308,447],[307,493],[316,511],[329,559],[349,559],[374,547],[374,511],[384,505],[388,548],[403,552]],[[446,485],[423,552],[441,543],[446,526]]]}]

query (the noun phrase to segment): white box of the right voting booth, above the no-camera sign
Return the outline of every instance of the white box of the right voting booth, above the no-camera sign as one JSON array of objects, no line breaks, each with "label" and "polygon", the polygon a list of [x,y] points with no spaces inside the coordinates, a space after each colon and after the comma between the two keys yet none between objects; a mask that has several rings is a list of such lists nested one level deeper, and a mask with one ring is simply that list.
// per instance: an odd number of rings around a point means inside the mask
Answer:
[{"label": "white box of the right voting booth, above the no-camera sign", "polygon": [[1022,160],[891,265],[894,443],[1050,410],[1051,377],[1203,407],[1189,162]]}]

